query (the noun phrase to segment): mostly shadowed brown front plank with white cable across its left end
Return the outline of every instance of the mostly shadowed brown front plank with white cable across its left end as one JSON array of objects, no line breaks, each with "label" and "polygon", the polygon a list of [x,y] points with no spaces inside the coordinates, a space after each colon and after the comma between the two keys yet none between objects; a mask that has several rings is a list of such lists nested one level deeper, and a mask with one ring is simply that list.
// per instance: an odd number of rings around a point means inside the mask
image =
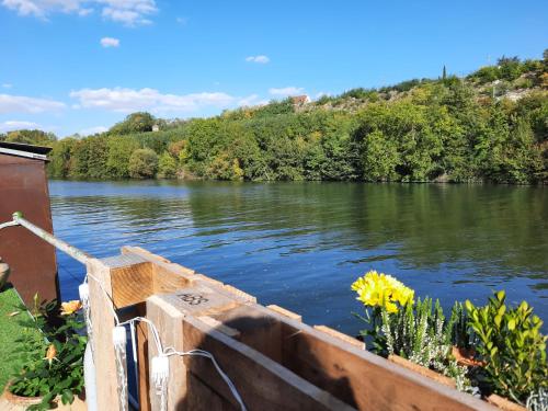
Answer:
[{"label": "mostly shadowed brown front plank with white cable across its left end", "polygon": [[[237,387],[249,410],[353,410],[329,392],[315,387],[255,350],[235,341],[192,316],[183,319],[184,350],[214,353]],[[186,357],[190,372],[237,407],[226,383],[207,358]],[[192,392],[189,391],[189,396]],[[195,408],[195,410],[207,410]]]}]

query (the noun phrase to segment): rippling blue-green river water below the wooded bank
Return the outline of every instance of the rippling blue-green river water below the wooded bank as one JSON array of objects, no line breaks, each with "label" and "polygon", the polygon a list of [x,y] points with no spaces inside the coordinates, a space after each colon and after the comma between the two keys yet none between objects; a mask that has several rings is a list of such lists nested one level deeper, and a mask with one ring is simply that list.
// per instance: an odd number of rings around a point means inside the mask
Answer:
[{"label": "rippling blue-green river water below the wooded bank", "polygon": [[[419,296],[483,304],[492,289],[548,320],[548,189],[523,186],[68,182],[49,184],[57,236],[95,256],[140,246],[356,333],[351,283],[370,269]],[[61,292],[83,267],[59,254]],[[546,324],[545,324],[546,330]]]}]

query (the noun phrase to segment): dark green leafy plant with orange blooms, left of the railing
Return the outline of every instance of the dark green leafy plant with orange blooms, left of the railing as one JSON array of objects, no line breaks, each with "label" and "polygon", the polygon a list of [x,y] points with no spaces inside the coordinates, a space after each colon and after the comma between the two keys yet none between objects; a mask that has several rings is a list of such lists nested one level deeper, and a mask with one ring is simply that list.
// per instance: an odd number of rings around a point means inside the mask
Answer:
[{"label": "dark green leafy plant with orange blooms, left of the railing", "polygon": [[32,318],[19,320],[27,331],[16,340],[15,355],[20,355],[23,367],[9,389],[22,397],[43,397],[30,410],[48,410],[57,397],[64,404],[72,403],[75,395],[82,392],[88,339],[78,332],[84,327],[77,312],[80,307],[79,301],[64,302],[61,307],[55,300],[39,304],[35,296]]}]

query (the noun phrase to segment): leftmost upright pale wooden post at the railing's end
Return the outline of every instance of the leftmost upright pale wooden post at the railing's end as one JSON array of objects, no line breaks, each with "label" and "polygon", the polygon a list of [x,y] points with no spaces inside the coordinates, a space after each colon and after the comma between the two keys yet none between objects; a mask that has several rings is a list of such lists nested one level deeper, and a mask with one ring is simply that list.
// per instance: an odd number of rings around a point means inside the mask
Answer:
[{"label": "leftmost upright pale wooden post at the railing's end", "polygon": [[[112,342],[112,331],[115,320],[110,299],[112,298],[112,269],[103,261],[95,259],[88,262],[87,269],[89,274],[91,320],[93,324],[92,344],[96,373],[98,409],[118,410],[121,409],[119,395],[116,384],[114,345]],[[125,407],[127,409],[127,404]]]}]

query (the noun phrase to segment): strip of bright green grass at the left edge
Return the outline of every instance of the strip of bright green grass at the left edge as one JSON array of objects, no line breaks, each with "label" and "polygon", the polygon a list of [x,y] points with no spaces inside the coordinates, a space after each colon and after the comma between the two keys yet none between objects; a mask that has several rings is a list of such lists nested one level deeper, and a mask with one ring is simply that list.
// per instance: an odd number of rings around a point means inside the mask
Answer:
[{"label": "strip of bright green grass at the left edge", "polygon": [[[19,324],[16,317],[10,317],[11,312],[18,311],[21,298],[14,288],[0,292],[0,392],[3,391],[10,376],[16,369],[18,359],[11,358],[15,346],[15,340],[21,335],[23,328]],[[20,313],[20,316],[23,313]]]}]

